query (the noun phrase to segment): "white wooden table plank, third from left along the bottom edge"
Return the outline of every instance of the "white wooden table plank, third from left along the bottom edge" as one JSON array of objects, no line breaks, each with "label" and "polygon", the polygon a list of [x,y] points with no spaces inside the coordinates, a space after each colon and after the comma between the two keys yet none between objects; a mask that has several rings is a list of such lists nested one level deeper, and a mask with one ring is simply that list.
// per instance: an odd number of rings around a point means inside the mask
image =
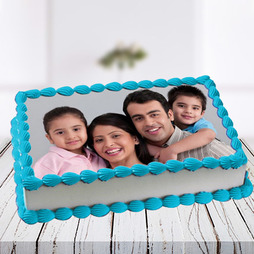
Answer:
[{"label": "white wooden table plank, third from left along the bottom edge", "polygon": [[111,253],[113,214],[80,219],[75,238],[75,253]]}]

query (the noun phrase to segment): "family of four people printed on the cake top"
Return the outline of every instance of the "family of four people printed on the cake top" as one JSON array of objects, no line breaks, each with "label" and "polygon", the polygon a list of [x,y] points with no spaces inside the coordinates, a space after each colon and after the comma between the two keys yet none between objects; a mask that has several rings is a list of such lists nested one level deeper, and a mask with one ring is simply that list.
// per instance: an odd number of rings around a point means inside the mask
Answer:
[{"label": "family of four people printed on the cake top", "polygon": [[149,89],[129,93],[123,101],[124,114],[105,113],[90,124],[77,108],[50,110],[43,126],[52,146],[34,164],[35,176],[190,157],[218,159],[234,153],[216,139],[213,124],[204,118],[207,98],[200,89],[181,85],[167,96]]}]

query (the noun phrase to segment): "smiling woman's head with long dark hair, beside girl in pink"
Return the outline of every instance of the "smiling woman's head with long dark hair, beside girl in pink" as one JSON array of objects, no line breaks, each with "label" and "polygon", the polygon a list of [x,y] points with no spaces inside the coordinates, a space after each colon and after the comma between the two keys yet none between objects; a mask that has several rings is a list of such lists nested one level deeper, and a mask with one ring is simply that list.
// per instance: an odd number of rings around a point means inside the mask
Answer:
[{"label": "smiling woman's head with long dark hair, beside girl in pink", "polygon": [[88,145],[108,161],[111,168],[152,161],[144,140],[122,114],[107,113],[94,118],[88,127]]}]

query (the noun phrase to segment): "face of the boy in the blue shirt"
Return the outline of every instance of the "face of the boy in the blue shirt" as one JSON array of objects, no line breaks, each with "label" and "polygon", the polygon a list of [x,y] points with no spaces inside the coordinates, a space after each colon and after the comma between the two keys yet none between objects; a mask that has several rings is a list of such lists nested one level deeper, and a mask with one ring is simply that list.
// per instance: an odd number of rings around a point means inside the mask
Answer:
[{"label": "face of the boy in the blue shirt", "polygon": [[202,104],[198,97],[180,95],[172,106],[174,123],[180,129],[186,129],[203,117]]}]

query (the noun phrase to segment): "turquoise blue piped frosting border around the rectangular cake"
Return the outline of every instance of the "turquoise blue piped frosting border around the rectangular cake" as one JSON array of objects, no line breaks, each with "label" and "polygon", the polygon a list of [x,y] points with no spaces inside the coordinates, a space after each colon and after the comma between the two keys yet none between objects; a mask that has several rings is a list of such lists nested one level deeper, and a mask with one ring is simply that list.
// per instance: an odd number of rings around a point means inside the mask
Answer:
[{"label": "turquoise blue piped frosting border around the rectangular cake", "polygon": [[[98,172],[93,172],[90,170],[84,170],[80,175],[75,173],[65,173],[63,176],[57,175],[46,175],[43,179],[38,179],[34,176],[34,171],[31,168],[32,157],[29,155],[31,150],[31,144],[29,142],[29,125],[26,122],[28,116],[26,115],[27,107],[25,102],[27,98],[36,99],[40,96],[52,97],[56,94],[62,96],[71,96],[74,93],[78,94],[89,94],[91,92],[103,92],[104,90],[110,91],[120,91],[122,89],[136,90],[138,88],[152,88],[152,87],[168,87],[168,86],[180,86],[182,84],[188,85],[204,85],[208,89],[208,96],[213,100],[213,106],[217,108],[217,114],[222,119],[223,126],[227,129],[227,136],[231,139],[231,146],[236,151],[235,154],[230,156],[223,156],[220,159],[215,159],[211,157],[204,158],[199,161],[194,158],[187,158],[183,162],[171,160],[166,164],[159,162],[152,162],[147,166],[144,165],[134,165],[131,168],[127,167],[117,167],[115,169],[100,169]],[[242,149],[242,144],[238,139],[238,133],[233,127],[233,122],[228,116],[228,112],[223,106],[223,103],[219,97],[219,92],[216,89],[215,83],[210,79],[209,76],[201,76],[198,78],[186,77],[183,79],[172,78],[169,80],[157,79],[155,81],[143,80],[140,82],[128,81],[123,84],[112,82],[107,85],[94,84],[91,87],[86,85],[76,86],[71,88],[69,86],[61,87],[59,89],[54,89],[52,87],[42,89],[42,90],[29,90],[25,92],[18,92],[16,97],[16,111],[17,115],[11,121],[11,135],[12,135],[12,155],[15,160],[14,179],[17,184],[16,194],[17,194],[17,207],[18,214],[26,223],[34,224],[37,222],[48,222],[54,218],[59,220],[69,219],[72,215],[78,218],[85,218],[89,214],[94,216],[104,216],[109,211],[121,213],[126,210],[138,212],[143,209],[156,210],[161,206],[165,207],[176,207],[179,204],[191,205],[194,202],[200,204],[206,204],[213,199],[218,201],[227,201],[230,198],[240,199],[243,197],[248,197],[253,190],[253,186],[249,179],[245,178],[245,182],[242,186],[232,188],[230,190],[218,190],[214,193],[200,192],[198,194],[185,194],[180,197],[170,195],[163,199],[160,198],[149,198],[146,201],[134,200],[129,204],[124,204],[121,202],[114,203],[111,206],[106,206],[104,204],[97,204],[92,207],[79,206],[75,209],[70,208],[59,208],[55,212],[43,209],[38,211],[27,210],[24,199],[24,188],[27,190],[37,190],[40,186],[45,185],[49,187],[56,186],[59,183],[65,183],[67,185],[76,184],[79,181],[84,183],[92,183],[93,181],[99,179],[101,181],[108,181],[113,177],[126,177],[131,174],[135,176],[143,176],[148,173],[161,174],[168,170],[170,172],[178,172],[182,169],[187,169],[190,171],[195,171],[200,167],[206,168],[216,168],[221,166],[223,169],[229,168],[239,168],[240,166],[247,163],[247,157]]]}]

